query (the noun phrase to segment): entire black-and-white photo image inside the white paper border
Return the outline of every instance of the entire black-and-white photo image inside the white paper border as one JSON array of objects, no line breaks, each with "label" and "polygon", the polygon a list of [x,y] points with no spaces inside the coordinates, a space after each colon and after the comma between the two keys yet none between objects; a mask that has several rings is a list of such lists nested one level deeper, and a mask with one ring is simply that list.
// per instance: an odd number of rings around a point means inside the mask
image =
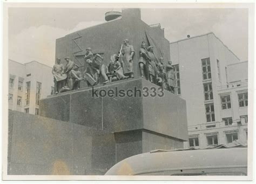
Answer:
[{"label": "entire black-and-white photo image inside the white paper border", "polygon": [[248,8],[6,10],[8,176],[248,176]]}]

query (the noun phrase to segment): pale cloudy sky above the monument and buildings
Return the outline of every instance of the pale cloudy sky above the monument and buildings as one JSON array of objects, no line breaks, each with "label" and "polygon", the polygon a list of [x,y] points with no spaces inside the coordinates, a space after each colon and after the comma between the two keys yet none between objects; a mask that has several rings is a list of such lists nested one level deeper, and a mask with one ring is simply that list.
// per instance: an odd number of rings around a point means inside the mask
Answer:
[{"label": "pale cloudy sky above the monument and buildings", "polygon": [[[112,9],[9,8],[9,59],[55,63],[55,40],[105,22]],[[119,9],[120,10],[120,9]],[[214,32],[241,61],[248,60],[247,9],[142,9],[142,20],[160,23],[170,42]]]}]

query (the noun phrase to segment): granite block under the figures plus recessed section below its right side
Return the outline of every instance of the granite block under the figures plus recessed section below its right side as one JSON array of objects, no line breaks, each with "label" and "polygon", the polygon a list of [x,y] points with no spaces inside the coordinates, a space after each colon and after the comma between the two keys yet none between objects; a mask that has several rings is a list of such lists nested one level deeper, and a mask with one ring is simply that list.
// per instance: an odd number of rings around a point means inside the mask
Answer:
[{"label": "granite block under the figures plus recessed section below its right side", "polygon": [[185,100],[145,79],[51,95],[39,109],[40,116],[114,133],[116,161],[187,140]]}]

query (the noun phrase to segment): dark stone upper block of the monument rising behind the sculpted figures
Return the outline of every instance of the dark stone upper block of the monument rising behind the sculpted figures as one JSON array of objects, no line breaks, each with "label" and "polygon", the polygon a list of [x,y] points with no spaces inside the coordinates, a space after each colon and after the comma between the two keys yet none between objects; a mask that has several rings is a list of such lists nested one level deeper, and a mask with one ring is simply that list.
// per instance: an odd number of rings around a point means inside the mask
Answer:
[{"label": "dark stone upper block of the monument rising behind the sculpted figures", "polygon": [[[118,54],[124,39],[128,39],[134,48],[133,68],[134,78],[140,77],[139,50],[144,40],[147,46],[154,47],[157,59],[163,56],[164,61],[170,60],[170,43],[164,37],[161,27],[150,26],[140,19],[140,9],[123,9],[121,17],[103,24],[88,27],[66,35],[56,40],[56,58],[66,65],[64,58],[69,56],[84,72],[88,67],[85,63],[85,49],[90,47],[94,55],[102,56],[106,66],[112,54]],[[104,19],[104,17],[103,17]],[[167,63],[165,63],[167,64]],[[102,83],[104,80],[100,79]],[[86,82],[80,82],[80,88],[87,87]]]}]

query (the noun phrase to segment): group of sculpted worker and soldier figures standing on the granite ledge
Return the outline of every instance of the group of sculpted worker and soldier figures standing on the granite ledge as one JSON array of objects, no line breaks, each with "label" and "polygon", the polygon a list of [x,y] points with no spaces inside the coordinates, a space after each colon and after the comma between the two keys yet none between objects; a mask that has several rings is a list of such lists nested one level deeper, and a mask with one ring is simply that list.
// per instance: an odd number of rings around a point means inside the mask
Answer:
[{"label": "group of sculpted worker and soldier figures standing on the granite ledge", "polygon": [[[80,81],[84,80],[87,86],[96,86],[100,80],[103,84],[124,80],[134,77],[134,48],[128,39],[123,40],[123,44],[118,54],[113,53],[107,65],[103,63],[103,56],[94,54],[90,47],[85,49],[84,65],[78,66],[69,57],[66,57],[66,65],[56,59],[56,64],[52,68],[53,80],[55,82],[55,93],[75,90],[80,88]],[[138,66],[140,76],[145,77],[152,83],[163,87],[174,93],[174,68],[172,62],[164,64],[164,58],[159,60],[154,54],[153,46],[146,46],[142,41],[139,49]],[[79,68],[84,68],[80,72]]]}]

